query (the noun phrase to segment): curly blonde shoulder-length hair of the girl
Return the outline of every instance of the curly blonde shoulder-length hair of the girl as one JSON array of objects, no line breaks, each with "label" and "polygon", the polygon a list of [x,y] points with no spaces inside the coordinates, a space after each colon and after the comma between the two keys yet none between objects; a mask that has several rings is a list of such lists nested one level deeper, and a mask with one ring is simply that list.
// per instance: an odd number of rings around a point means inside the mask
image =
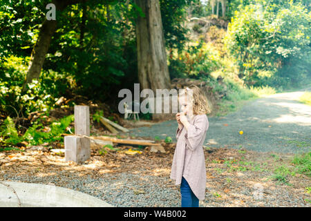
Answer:
[{"label": "curly blonde shoulder-length hair of the girl", "polygon": [[[189,90],[190,89],[190,90]],[[191,93],[192,91],[192,96]],[[190,95],[187,97],[192,97],[191,104],[193,108],[194,115],[202,115],[202,114],[208,114],[211,113],[211,110],[209,109],[209,104],[207,102],[207,97],[205,97],[204,93],[198,86],[192,84],[188,88],[184,88],[182,92],[180,93],[180,97],[182,95]]]}]

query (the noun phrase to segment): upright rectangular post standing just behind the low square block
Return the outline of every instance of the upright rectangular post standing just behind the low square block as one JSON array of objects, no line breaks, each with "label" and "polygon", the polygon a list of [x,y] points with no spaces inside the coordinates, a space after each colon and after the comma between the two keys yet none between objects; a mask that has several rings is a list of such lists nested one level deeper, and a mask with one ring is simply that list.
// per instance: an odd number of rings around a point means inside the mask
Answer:
[{"label": "upright rectangular post standing just behind the low square block", "polygon": [[90,136],[90,107],[75,105],[75,135]]}]

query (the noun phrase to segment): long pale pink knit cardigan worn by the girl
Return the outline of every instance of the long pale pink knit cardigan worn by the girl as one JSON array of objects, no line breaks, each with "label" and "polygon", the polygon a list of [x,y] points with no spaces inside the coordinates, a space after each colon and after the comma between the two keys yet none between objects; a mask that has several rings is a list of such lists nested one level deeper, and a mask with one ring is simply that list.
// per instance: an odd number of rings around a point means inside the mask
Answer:
[{"label": "long pale pink knit cardigan worn by the girl", "polygon": [[206,169],[203,142],[206,137],[209,121],[207,115],[194,115],[189,120],[188,130],[182,126],[177,128],[177,144],[171,166],[172,180],[181,184],[185,177],[191,190],[199,200],[205,199]]}]

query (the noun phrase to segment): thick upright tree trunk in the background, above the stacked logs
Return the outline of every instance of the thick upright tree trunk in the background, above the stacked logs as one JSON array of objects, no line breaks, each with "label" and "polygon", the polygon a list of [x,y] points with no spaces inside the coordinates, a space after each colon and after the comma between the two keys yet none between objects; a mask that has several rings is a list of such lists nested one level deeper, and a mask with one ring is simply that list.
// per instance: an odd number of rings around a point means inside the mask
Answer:
[{"label": "thick upright tree trunk in the background, above the stacked logs", "polygon": [[140,88],[154,92],[171,88],[159,0],[135,0],[145,17],[138,16],[136,37]]}]

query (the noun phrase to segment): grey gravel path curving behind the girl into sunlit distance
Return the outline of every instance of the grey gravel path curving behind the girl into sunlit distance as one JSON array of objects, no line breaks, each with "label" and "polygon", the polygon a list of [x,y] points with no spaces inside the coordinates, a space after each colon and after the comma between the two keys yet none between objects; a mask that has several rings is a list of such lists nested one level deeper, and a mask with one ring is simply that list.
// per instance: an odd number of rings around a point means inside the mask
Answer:
[{"label": "grey gravel path curving behind the girl into sunlit distance", "polygon": [[[311,91],[310,88],[306,89]],[[304,90],[278,93],[248,102],[239,111],[225,117],[208,117],[209,130],[205,145],[211,147],[246,148],[252,151],[303,153],[311,147],[311,106],[295,99]],[[227,124],[225,126],[224,124]],[[176,142],[175,120],[151,127],[134,128],[128,134],[137,137]],[[239,134],[243,131],[243,135]]]}]

